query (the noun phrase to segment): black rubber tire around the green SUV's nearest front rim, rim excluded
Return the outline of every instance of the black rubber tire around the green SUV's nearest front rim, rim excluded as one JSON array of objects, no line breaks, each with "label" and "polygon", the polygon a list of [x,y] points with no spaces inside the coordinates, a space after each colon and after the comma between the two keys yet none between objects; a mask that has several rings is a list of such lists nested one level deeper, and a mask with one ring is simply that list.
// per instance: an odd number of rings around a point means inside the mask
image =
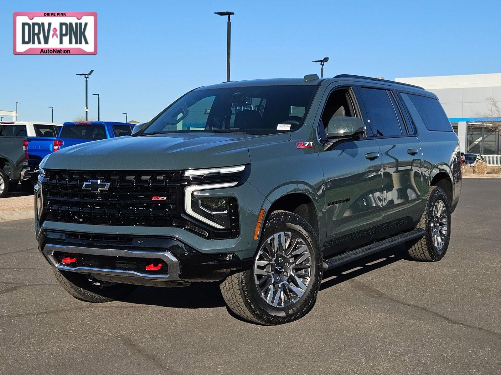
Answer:
[{"label": "black rubber tire around the green SUV's nearest front rim, rim excluded", "polygon": [[316,301],[322,281],[322,250],[312,226],[299,215],[288,211],[275,211],[266,220],[258,249],[274,233],[294,232],[308,246],[311,258],[311,277],[302,297],[286,307],[273,307],[258,293],[254,279],[254,266],[228,276],[220,285],[228,307],[241,318],[263,325],[288,323],[305,315]]}]

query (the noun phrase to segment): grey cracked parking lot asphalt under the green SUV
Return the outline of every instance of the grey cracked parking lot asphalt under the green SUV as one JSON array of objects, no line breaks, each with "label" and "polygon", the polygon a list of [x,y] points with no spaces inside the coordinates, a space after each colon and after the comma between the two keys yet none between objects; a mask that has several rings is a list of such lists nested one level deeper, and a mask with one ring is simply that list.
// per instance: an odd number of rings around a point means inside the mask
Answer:
[{"label": "grey cracked parking lot asphalt under the green SUV", "polygon": [[310,313],[274,327],[237,319],[215,284],[79,301],[31,220],[0,223],[0,373],[500,373],[500,189],[463,180],[441,261],[397,246],[328,272]]}]

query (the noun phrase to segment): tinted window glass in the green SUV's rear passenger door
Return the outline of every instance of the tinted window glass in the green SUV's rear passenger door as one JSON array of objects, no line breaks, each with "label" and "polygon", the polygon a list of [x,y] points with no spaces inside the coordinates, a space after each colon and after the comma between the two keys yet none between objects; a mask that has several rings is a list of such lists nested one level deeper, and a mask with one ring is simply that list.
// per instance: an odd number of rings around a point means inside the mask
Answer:
[{"label": "tinted window glass in the green SUV's rear passenger door", "polygon": [[367,118],[376,136],[402,135],[397,113],[391,102],[389,92],[381,88],[360,89]]}]

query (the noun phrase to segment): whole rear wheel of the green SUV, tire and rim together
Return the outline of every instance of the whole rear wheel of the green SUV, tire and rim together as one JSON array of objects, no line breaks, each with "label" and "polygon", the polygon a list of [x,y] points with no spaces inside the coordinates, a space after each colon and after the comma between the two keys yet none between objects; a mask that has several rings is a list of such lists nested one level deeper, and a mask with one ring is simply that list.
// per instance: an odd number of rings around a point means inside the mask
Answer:
[{"label": "whole rear wheel of the green SUV, tire and rim together", "polygon": [[445,255],[450,240],[450,203],[438,186],[430,186],[418,227],[425,235],[407,244],[409,255],[416,260],[438,261]]}]

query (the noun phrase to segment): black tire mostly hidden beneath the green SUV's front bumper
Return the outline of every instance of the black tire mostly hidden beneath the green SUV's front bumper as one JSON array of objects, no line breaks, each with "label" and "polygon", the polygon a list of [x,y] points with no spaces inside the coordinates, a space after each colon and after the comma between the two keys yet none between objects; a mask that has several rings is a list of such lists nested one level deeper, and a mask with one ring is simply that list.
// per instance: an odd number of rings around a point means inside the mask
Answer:
[{"label": "black tire mostly hidden beneath the green SUV's front bumper", "polygon": [[98,286],[92,284],[82,273],[62,271],[56,267],[52,267],[52,270],[58,282],[68,293],[86,302],[101,303],[120,300],[137,287],[137,285],[121,283]]}]

